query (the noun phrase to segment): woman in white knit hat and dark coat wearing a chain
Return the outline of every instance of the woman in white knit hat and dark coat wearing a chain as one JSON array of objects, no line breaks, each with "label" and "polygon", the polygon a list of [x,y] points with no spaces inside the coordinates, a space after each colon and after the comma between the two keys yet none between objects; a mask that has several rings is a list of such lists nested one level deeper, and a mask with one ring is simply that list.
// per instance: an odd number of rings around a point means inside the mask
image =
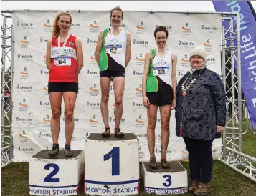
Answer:
[{"label": "woman in white knit hat and dark coat wearing a chain", "polygon": [[189,62],[191,70],[176,89],[176,135],[189,152],[189,192],[207,195],[212,190],[212,141],[226,122],[225,91],[219,75],[207,69],[204,49],[193,49]]}]

